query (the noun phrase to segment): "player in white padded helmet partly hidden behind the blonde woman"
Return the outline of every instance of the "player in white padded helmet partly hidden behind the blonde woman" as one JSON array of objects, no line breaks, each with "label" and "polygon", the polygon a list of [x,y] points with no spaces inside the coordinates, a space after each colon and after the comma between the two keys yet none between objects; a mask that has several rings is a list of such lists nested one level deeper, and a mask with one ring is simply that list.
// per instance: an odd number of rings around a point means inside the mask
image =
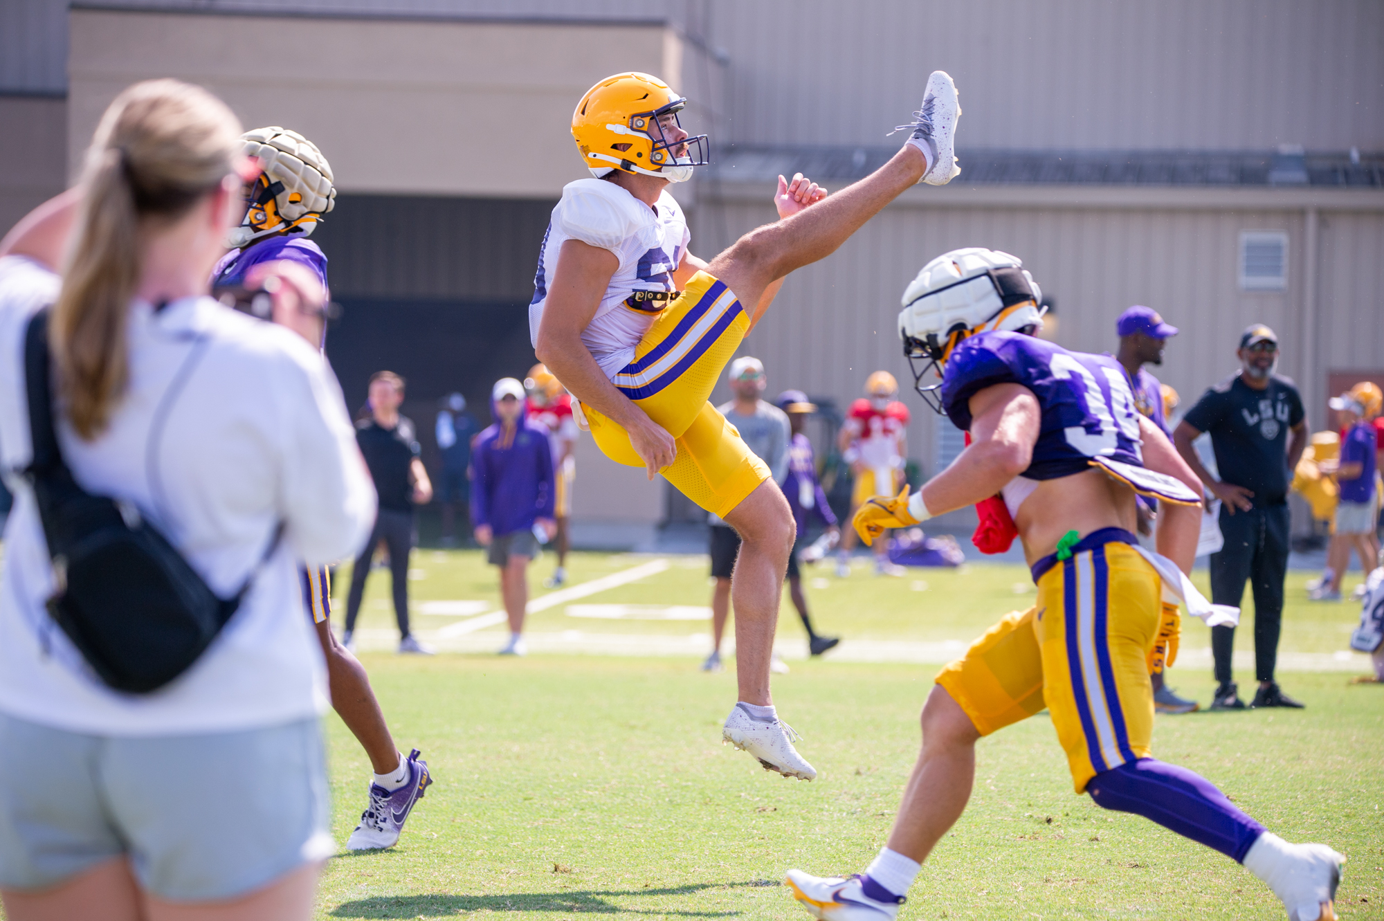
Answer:
[{"label": "player in white padded helmet partly hidden behind the blonde woman", "polygon": [[[317,147],[296,131],[263,127],[246,131],[245,155],[259,160],[259,177],[246,185],[246,212],[233,231],[231,249],[212,270],[213,295],[235,289],[270,290],[274,319],[321,347],[327,324],[327,256],[307,236],[332,210],[332,170]],[[360,661],[331,626],[327,568],[299,571],[303,607],[313,618],[327,657],[332,707],[370,756],[370,803],[346,841],[347,850],[392,848],[404,820],[432,783],[418,750],[406,759],[394,747],[385,715]]]}]

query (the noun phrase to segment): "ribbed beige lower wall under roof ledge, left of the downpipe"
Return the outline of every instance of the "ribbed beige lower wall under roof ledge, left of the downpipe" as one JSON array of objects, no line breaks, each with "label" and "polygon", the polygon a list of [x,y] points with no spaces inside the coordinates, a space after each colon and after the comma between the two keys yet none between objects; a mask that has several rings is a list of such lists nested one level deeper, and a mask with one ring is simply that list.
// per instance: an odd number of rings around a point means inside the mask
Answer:
[{"label": "ribbed beige lower wall under roof ledge, left of the downpipe", "polygon": [[[713,210],[703,209],[698,230],[716,225]],[[725,223],[734,232],[770,217],[768,206],[731,205]],[[988,246],[1020,256],[1056,297],[1059,342],[1070,348],[1113,351],[1114,321],[1129,304],[1163,311],[1182,332],[1169,342],[1165,364],[1153,371],[1176,387],[1186,408],[1236,369],[1239,335],[1255,321],[1280,333],[1283,372],[1301,376],[1304,355],[1294,348],[1301,340],[1301,223],[1291,212],[890,207],[833,256],[790,275],[742,351],[764,360],[772,393],[800,387],[844,407],[876,368],[891,371],[907,393],[908,364],[895,331],[904,288],[948,249]],[[1241,230],[1290,234],[1287,292],[1239,290]],[[722,394],[724,383],[713,400],[728,398]],[[908,405],[915,419],[911,454],[930,469],[930,411],[916,397]]]}]

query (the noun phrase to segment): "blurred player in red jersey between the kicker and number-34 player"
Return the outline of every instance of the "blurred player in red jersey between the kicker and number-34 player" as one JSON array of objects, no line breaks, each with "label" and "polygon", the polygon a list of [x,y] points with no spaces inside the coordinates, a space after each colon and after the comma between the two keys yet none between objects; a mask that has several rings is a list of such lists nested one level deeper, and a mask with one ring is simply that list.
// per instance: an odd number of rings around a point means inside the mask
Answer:
[{"label": "blurred player in red jersey between the kicker and number-34 player", "polygon": [[[904,485],[908,456],[908,407],[898,401],[898,382],[887,371],[865,380],[865,397],[851,404],[846,425],[836,436],[841,459],[851,465],[851,514],[875,496],[891,498]],[[875,574],[902,575],[904,567],[889,561],[886,541],[875,542]],[[836,575],[851,574],[855,531],[846,528],[836,557]]]}]

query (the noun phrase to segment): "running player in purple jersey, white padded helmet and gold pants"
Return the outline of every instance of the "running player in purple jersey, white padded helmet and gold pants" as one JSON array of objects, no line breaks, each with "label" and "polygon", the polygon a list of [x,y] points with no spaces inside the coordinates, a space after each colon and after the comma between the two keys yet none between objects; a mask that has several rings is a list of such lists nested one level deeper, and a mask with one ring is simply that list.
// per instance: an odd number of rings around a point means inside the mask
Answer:
[{"label": "running player in purple jersey, white padded helmet and gold pants", "polygon": [[[1001,620],[937,676],[922,754],[875,862],[847,878],[790,870],[793,897],[826,921],[893,921],[920,863],[966,808],[977,740],[1046,707],[1078,794],[1243,863],[1293,921],[1334,918],[1341,855],[1283,841],[1210,781],[1151,756],[1149,662],[1175,654],[1176,600],[1210,624],[1237,611],[1208,604],[1185,575],[1200,520],[1192,470],[1139,415],[1114,358],[1031,335],[1042,324],[1031,281],[1012,256],[962,249],[909,285],[905,350],[943,375],[919,391],[940,393],[972,443],[919,492],[872,499],[854,524],[868,542],[998,492],[1032,568],[1037,606]],[[1136,491],[1160,501],[1158,553],[1131,532]]]}]

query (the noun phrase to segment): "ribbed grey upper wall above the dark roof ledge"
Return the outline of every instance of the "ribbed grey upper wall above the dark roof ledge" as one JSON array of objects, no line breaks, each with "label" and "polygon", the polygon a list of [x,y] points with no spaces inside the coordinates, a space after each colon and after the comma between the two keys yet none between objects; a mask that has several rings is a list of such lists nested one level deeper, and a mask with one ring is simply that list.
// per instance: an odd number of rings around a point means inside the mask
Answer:
[{"label": "ribbed grey upper wall above the dark roof ledge", "polygon": [[713,37],[745,144],[883,144],[940,68],[963,148],[1384,147],[1377,0],[722,0]]}]

